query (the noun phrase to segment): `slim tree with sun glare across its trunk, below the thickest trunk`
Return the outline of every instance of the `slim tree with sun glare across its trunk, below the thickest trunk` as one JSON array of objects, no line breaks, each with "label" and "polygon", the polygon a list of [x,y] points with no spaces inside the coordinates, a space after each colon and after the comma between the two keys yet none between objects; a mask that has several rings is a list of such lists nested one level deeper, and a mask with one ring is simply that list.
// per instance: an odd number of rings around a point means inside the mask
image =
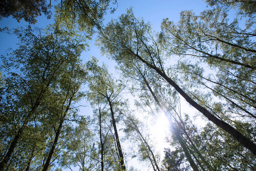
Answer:
[{"label": "slim tree with sun glare across its trunk, below the thickest trunk", "polygon": [[[141,64],[139,61],[137,62],[134,61],[133,63],[130,62],[129,67],[122,66],[120,69],[123,71],[123,75],[125,75],[127,78],[132,78],[133,80],[140,82],[140,87],[141,87],[140,100],[147,101],[148,99],[152,99],[151,100],[152,103],[155,103],[157,108],[159,108],[160,111],[164,113],[165,117],[169,119],[170,132],[173,134],[174,137],[176,137],[176,139],[178,140],[178,143],[181,145],[185,153],[185,156],[190,163],[190,166],[192,166],[193,170],[198,170],[197,165],[194,163],[193,158],[189,153],[188,145],[186,145],[186,142],[182,140],[182,137],[180,135],[180,132],[177,129],[177,126],[172,121],[173,119],[176,120],[175,116],[173,115],[173,112],[171,112],[175,108],[176,100],[170,100],[168,99],[168,97],[165,97],[166,95],[169,96],[173,94],[172,98],[178,99],[177,95],[175,95],[175,93],[173,93],[172,90],[168,88],[168,86],[163,86],[163,83],[161,83],[161,78],[158,78],[155,73],[151,72],[151,70],[149,70],[147,66],[143,66],[143,64]],[[154,83],[154,88],[155,88],[154,90],[150,86],[149,82]],[[163,91],[162,89],[164,89],[165,92],[162,92]],[[160,99],[165,103],[162,103]],[[152,104],[149,103],[149,104],[143,104],[143,105],[152,105]],[[166,108],[166,106],[168,106],[169,108]],[[152,156],[154,155],[152,154]],[[160,170],[156,164],[156,161],[154,161],[154,163],[156,165],[157,170]],[[201,164],[199,163],[199,165]]]}]

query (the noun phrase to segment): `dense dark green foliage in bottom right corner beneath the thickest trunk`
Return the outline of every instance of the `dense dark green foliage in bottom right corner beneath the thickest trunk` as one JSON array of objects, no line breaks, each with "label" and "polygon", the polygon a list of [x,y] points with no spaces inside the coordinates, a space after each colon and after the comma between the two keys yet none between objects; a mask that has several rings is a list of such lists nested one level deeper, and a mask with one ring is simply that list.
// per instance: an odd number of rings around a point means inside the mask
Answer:
[{"label": "dense dark green foliage in bottom right corner beneath the thickest trunk", "polygon": [[[250,124],[241,123],[239,121],[237,121],[237,123],[242,125],[243,129],[255,130]],[[238,129],[241,129],[241,127]],[[205,156],[209,155],[206,160],[209,160],[209,162],[212,163],[214,169],[255,170],[254,156],[231,139],[229,135],[226,135],[221,129],[208,124],[204,128],[204,131],[201,132],[200,136],[200,144],[204,144],[204,146],[201,146],[200,148],[200,145],[198,144],[198,149],[200,149],[201,153]]]}]

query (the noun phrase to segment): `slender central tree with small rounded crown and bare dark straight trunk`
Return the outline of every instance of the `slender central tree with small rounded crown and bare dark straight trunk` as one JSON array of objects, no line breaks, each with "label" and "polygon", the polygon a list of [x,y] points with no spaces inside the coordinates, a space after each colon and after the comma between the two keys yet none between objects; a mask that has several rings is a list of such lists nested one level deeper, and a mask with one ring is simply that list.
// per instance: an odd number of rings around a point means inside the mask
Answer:
[{"label": "slender central tree with small rounded crown and bare dark straight trunk", "polygon": [[125,170],[124,155],[121,149],[120,139],[116,127],[116,117],[115,109],[118,108],[119,94],[124,89],[123,84],[115,84],[111,75],[108,74],[107,68],[105,66],[97,66],[97,60],[93,58],[91,61],[87,62],[87,68],[92,72],[92,76],[89,80],[88,87],[90,91],[88,92],[88,100],[92,104],[101,103],[106,104],[109,107],[109,113],[111,116],[111,124],[113,125],[115,142],[117,146],[117,152],[119,154],[120,169]]}]

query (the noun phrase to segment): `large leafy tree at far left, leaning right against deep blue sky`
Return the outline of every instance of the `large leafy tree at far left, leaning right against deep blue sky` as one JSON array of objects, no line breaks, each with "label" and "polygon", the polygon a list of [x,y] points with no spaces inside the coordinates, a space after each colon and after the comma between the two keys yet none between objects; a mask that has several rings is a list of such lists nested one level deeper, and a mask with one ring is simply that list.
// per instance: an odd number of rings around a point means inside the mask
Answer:
[{"label": "large leafy tree at far left, leaning right against deep blue sky", "polygon": [[[15,30],[21,40],[20,47],[9,58],[2,56],[2,68],[8,77],[1,100],[1,131],[5,151],[2,152],[0,168],[9,162],[28,125],[34,125],[51,100],[51,92],[58,85],[59,76],[72,63],[79,61],[84,50],[82,38],[58,27],[39,30],[36,36],[31,27]],[[15,70],[13,70],[15,69]],[[10,117],[11,116],[11,117]],[[37,124],[36,124],[37,125]]]}]

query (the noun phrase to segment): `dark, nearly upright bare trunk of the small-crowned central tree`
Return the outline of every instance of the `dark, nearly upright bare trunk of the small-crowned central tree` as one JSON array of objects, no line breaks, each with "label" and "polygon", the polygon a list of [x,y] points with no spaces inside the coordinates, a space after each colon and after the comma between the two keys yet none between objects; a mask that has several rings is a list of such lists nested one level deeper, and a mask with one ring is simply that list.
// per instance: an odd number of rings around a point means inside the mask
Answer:
[{"label": "dark, nearly upright bare trunk of the small-crowned central tree", "polygon": [[112,124],[113,124],[113,128],[114,128],[114,131],[115,131],[116,144],[117,144],[117,150],[118,150],[119,157],[120,157],[121,169],[126,170],[125,165],[124,165],[124,156],[123,156],[123,152],[122,152],[122,149],[121,149],[119,136],[118,136],[118,133],[117,133],[116,120],[115,120],[115,116],[114,116],[114,112],[113,112],[113,107],[112,107],[112,103],[111,103],[109,98],[108,98],[108,104],[109,104],[109,107],[110,107],[111,117],[112,117]]}]

